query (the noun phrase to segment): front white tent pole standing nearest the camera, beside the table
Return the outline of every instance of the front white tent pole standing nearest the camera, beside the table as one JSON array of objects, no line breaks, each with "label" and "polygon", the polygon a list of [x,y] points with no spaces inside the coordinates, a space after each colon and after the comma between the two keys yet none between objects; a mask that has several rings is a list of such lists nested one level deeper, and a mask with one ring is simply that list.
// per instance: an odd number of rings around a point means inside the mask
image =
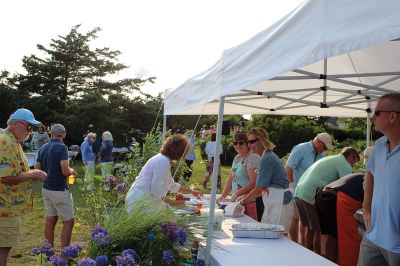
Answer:
[{"label": "front white tent pole standing nearest the camera, beside the table", "polygon": [[206,245],[206,265],[211,265],[211,245],[212,245],[212,235],[214,226],[214,211],[215,211],[215,199],[217,192],[217,180],[219,172],[219,161],[220,161],[220,151],[221,146],[221,133],[222,133],[222,120],[224,120],[224,103],[225,97],[221,97],[219,100],[219,110],[218,110],[218,122],[217,122],[217,138],[215,145],[215,157],[214,157],[214,168],[212,176],[212,187],[211,187],[211,198],[210,198],[210,211],[208,215],[208,225],[207,225],[207,245]]}]

